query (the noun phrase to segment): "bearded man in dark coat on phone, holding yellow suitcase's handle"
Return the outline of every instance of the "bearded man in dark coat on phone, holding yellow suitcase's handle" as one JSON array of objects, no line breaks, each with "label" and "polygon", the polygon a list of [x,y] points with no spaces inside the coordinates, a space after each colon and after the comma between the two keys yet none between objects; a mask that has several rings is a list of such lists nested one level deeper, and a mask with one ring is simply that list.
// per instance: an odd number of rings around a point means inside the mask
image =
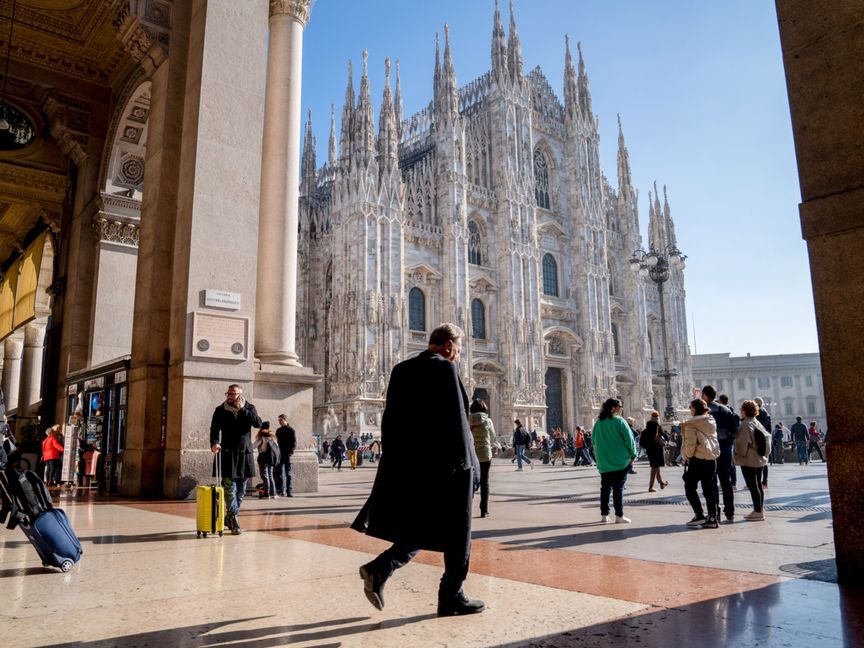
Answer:
[{"label": "bearded man in dark coat on phone, holding yellow suitcase's handle", "polygon": [[[226,523],[233,535],[243,532],[237,522],[246,494],[246,480],[255,474],[252,456],[252,428],[261,427],[261,417],[252,403],[243,398],[240,385],[229,385],[225,402],[213,412],[210,422],[210,450],[222,451],[222,486],[225,488]],[[221,437],[220,437],[221,432]]]}]

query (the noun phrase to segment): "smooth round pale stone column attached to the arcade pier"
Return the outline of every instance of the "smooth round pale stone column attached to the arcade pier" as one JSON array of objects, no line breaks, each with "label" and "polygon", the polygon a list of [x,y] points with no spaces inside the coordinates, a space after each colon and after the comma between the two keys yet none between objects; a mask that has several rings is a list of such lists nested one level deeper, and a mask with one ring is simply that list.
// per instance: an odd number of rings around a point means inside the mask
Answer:
[{"label": "smooth round pale stone column attached to the arcade pier", "polygon": [[310,5],[311,0],[270,0],[255,313],[255,355],[263,364],[300,365],[294,350],[300,78]]}]

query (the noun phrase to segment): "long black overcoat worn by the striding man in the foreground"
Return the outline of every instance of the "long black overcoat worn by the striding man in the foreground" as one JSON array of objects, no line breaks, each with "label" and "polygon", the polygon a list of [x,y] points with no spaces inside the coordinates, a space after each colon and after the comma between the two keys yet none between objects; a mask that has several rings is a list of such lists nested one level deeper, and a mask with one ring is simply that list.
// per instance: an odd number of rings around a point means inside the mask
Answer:
[{"label": "long black overcoat worn by the striding man in the foreground", "polygon": [[381,446],[387,452],[351,527],[416,549],[467,546],[479,463],[455,364],[427,350],[393,368]]}]

